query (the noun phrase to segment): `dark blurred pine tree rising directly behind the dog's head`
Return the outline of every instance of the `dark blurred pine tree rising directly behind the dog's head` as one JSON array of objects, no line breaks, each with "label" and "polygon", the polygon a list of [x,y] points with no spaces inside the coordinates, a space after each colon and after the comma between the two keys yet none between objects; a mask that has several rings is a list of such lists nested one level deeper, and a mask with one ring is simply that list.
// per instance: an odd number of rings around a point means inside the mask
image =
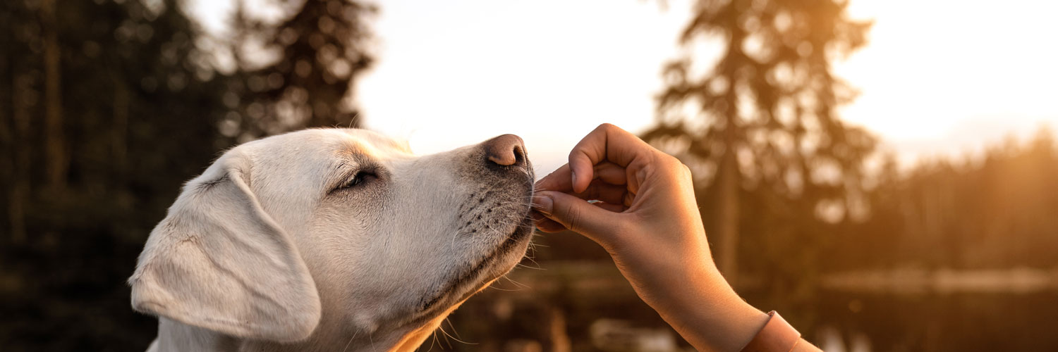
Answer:
[{"label": "dark blurred pine tree rising directly behind the dog's head", "polygon": [[[349,98],[353,80],[373,61],[365,23],[376,12],[360,1],[307,0],[289,18],[271,24],[250,16],[240,1],[233,52],[241,82],[233,92],[242,97],[234,105],[241,138],[305,127],[359,127]],[[250,59],[259,52],[276,59]]]}]

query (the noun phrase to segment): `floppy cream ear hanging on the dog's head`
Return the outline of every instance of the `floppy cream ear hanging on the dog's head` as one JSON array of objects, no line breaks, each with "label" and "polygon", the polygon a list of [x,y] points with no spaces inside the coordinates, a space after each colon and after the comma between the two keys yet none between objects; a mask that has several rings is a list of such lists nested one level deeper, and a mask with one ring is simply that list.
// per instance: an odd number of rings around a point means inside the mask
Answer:
[{"label": "floppy cream ear hanging on the dog's head", "polygon": [[261,208],[229,154],[184,186],[140,254],[132,309],[221,333],[307,338],[320,296],[287,234]]}]

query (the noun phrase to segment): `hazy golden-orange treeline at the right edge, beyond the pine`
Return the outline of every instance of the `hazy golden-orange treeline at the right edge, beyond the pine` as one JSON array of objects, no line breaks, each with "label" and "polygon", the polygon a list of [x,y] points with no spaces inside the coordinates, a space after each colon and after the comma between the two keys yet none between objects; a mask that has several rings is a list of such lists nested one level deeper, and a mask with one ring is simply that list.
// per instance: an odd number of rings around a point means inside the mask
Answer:
[{"label": "hazy golden-orange treeline at the right edge, beyond the pine", "polygon": [[835,233],[823,267],[1054,268],[1058,150],[1051,130],[964,160],[890,164],[870,218]]}]

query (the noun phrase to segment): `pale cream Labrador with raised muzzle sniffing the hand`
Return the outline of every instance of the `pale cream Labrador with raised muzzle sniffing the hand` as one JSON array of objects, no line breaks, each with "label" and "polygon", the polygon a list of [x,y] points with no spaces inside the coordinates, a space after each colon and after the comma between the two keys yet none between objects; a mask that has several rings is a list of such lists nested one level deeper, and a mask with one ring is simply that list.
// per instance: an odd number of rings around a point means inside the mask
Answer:
[{"label": "pale cream Labrador with raised muzzle sniffing the hand", "polygon": [[416,156],[354,129],[229,150],[188,182],[129,278],[148,351],[411,351],[525,255],[517,136]]}]

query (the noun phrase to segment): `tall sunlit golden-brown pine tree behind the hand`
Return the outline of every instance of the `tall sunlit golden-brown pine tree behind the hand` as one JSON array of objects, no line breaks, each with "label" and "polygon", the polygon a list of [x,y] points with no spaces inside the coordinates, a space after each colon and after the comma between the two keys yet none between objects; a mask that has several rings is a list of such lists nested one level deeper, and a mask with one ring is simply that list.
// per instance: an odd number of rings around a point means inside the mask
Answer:
[{"label": "tall sunlit golden-brown pine tree behind the hand", "polygon": [[769,211],[749,208],[747,197],[765,191],[770,196],[753,201],[758,206],[814,219],[856,210],[860,168],[874,140],[838,118],[835,108],[854,92],[835,77],[831,61],[863,45],[870,23],[849,19],[846,5],[700,0],[680,41],[693,47],[719,37],[723,52],[704,74],[691,58],[663,72],[657,126],[643,136],[704,175],[705,218],[732,282],[741,224]]}]

